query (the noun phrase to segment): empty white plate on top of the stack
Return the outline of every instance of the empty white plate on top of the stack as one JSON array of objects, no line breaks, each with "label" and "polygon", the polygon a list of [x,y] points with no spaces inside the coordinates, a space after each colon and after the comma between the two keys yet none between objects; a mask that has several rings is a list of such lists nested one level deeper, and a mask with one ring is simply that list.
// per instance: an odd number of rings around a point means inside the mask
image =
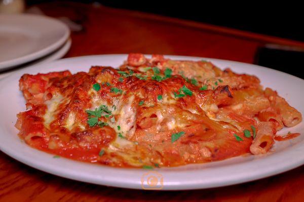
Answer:
[{"label": "empty white plate on top of the stack", "polygon": [[0,70],[43,57],[62,46],[70,31],[59,20],[32,14],[0,15]]}]

